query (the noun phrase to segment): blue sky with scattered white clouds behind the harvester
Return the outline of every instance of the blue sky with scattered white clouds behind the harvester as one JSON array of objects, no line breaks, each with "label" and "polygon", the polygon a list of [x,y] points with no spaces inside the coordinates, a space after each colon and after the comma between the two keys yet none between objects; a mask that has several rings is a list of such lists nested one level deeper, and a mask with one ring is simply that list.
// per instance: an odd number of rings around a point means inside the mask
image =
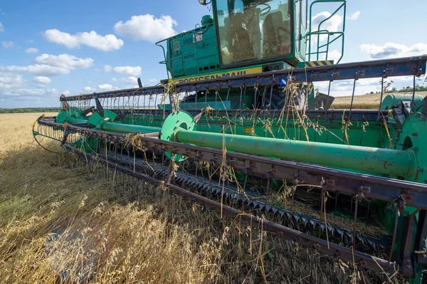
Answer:
[{"label": "blue sky with scattered white clouds behind the harvester", "polygon": [[[423,0],[347,1],[342,62],[427,53],[426,6]],[[58,106],[63,93],[134,88],[138,77],[155,85],[167,74],[154,42],[191,30],[211,13],[196,0],[0,0],[0,9],[0,107]],[[317,8],[314,20],[328,11],[330,4]],[[342,15],[328,25],[342,25]],[[409,81],[396,78],[394,85]],[[335,84],[334,95],[348,95],[349,85]],[[369,90],[379,90],[377,80],[361,80],[358,93]]]}]

